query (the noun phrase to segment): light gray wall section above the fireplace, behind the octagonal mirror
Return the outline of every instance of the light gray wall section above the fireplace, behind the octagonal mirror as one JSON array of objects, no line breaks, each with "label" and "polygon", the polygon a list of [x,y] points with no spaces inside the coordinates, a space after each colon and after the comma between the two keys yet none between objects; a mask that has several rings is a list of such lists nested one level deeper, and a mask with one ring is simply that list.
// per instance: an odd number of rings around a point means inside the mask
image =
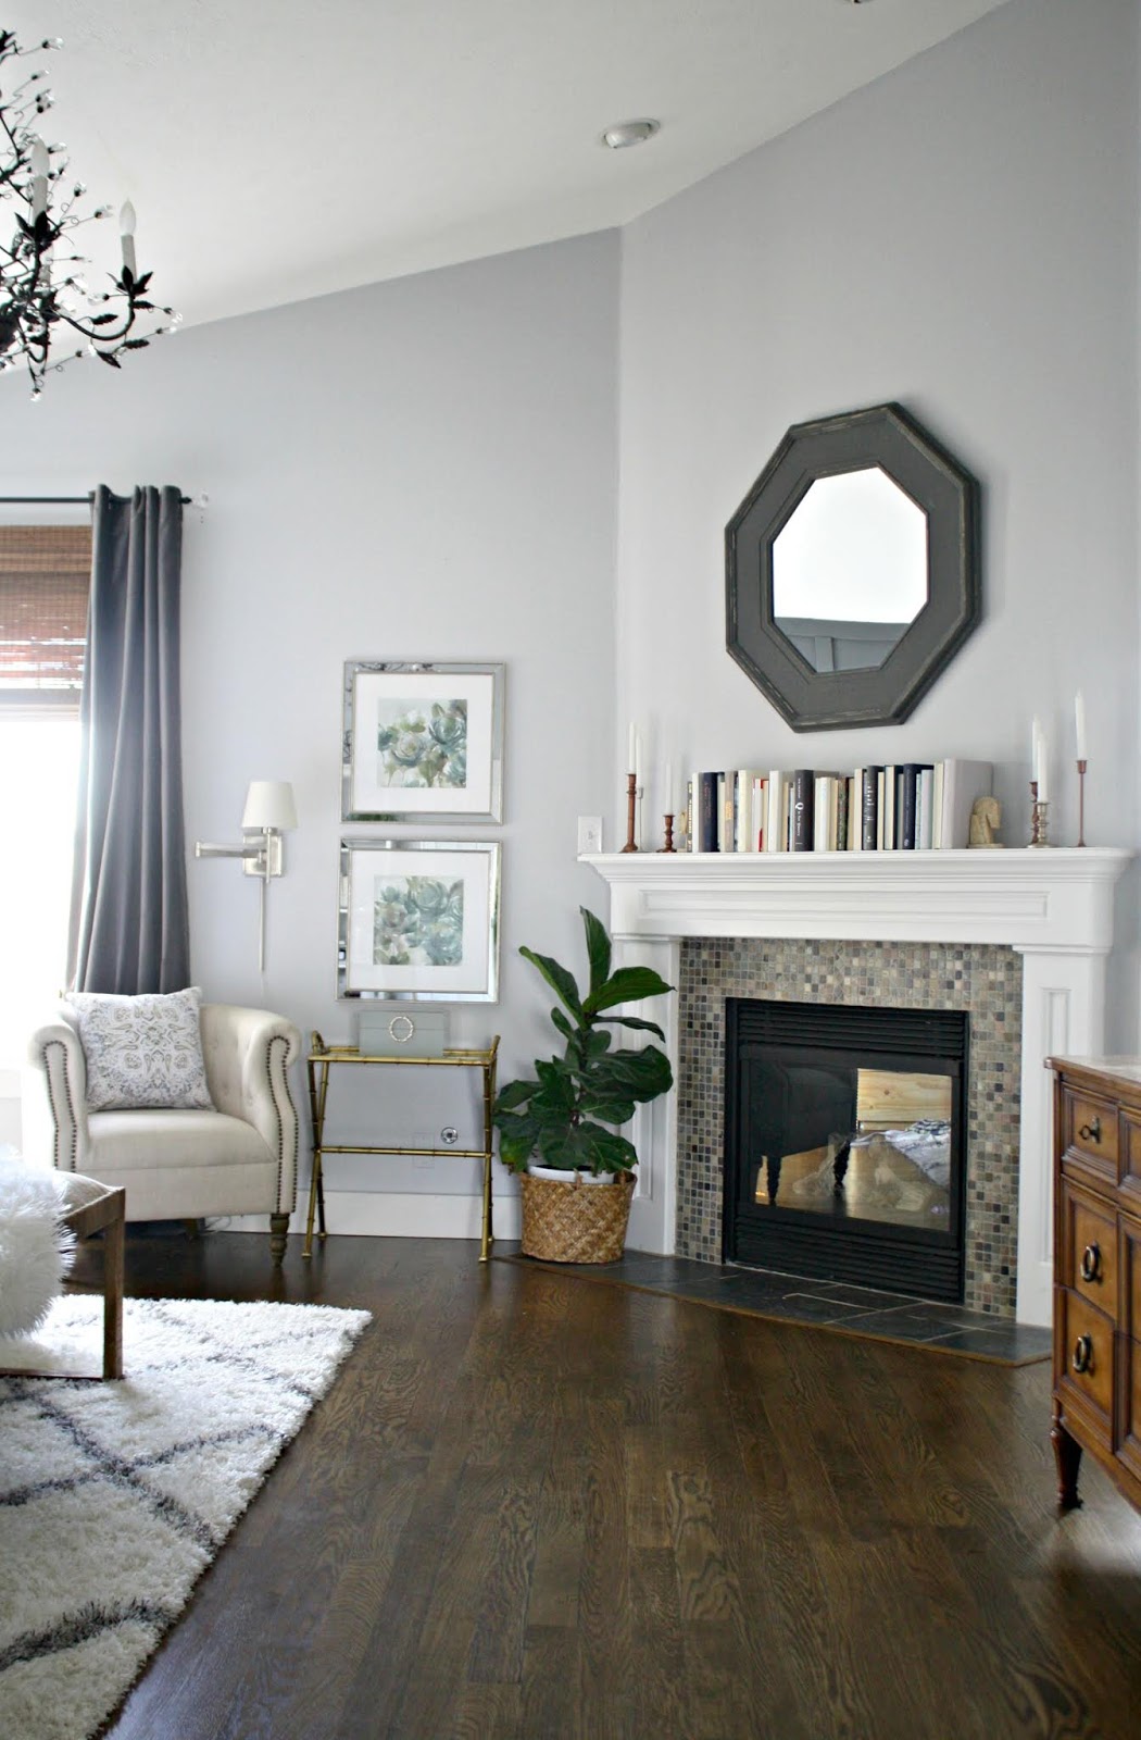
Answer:
[{"label": "light gray wall section above the fireplace, behind the octagonal mirror", "polygon": [[[904,726],[795,734],[725,654],[724,527],[791,423],[889,398],[983,482],[984,623]],[[1136,846],[1134,0],[1011,0],[630,224],[621,477],[617,766],[628,719],[651,771],[993,760],[1021,846],[1040,713],[1073,844],[1080,687],[1085,837]]]}]

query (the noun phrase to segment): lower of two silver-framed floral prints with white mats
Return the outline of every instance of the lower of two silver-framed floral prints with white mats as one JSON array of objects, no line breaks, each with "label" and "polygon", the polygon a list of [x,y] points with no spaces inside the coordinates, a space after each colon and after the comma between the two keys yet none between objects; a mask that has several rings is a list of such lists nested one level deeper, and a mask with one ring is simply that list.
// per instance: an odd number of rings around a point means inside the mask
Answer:
[{"label": "lower of two silver-framed floral prints with white mats", "polygon": [[497,840],[341,840],[337,997],[494,1002]]}]

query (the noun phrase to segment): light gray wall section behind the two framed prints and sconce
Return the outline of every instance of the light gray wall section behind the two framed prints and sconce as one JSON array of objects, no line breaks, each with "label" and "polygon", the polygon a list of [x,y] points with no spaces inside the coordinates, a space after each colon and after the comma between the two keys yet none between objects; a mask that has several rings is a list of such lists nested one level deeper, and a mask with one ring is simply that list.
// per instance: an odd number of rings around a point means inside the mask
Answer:
[{"label": "light gray wall section behind the two framed prints and sconce", "polygon": [[[576,814],[598,809],[614,731],[616,345],[602,233],[188,329],[117,376],[77,364],[35,405],[3,383],[5,487],[209,494],[184,531],[188,839],[235,840],[250,778],[292,780],[301,825],[270,889],[264,983],[256,882],[191,860],[207,997],[353,1037],[336,1002],[343,663],[503,659],[504,825],[350,832],[503,840],[501,999],[452,1007],[452,1042],[501,1032],[504,1079],[548,1051],[518,945],[577,962],[579,903],[605,910]],[[456,1122],[475,1145],[475,1077],[416,1072],[426,1105],[407,1075],[384,1074],[379,1119],[372,1082],[341,1140]],[[344,1159],[336,1176],[466,1192],[475,1162]]]}]

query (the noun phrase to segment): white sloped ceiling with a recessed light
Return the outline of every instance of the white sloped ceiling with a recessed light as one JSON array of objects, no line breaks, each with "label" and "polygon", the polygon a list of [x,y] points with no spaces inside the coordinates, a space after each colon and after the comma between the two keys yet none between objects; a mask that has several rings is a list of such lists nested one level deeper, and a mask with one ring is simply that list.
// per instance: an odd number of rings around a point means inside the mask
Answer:
[{"label": "white sloped ceiling with a recessed light", "polygon": [[[1002,0],[16,0],[188,324],[623,224]],[[602,130],[656,117],[611,151]],[[108,231],[83,252],[111,264]],[[103,249],[97,247],[97,240]]]}]

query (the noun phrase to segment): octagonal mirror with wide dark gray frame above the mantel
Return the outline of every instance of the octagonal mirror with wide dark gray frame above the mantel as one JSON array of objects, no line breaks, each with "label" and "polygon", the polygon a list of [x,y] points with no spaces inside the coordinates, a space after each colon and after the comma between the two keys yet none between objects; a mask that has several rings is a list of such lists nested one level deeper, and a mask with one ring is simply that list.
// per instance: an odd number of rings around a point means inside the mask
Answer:
[{"label": "octagonal mirror with wide dark gray frame above the mantel", "polygon": [[978,494],[901,405],[790,428],[725,531],[725,640],[793,731],[897,724],[946,668]]}]

